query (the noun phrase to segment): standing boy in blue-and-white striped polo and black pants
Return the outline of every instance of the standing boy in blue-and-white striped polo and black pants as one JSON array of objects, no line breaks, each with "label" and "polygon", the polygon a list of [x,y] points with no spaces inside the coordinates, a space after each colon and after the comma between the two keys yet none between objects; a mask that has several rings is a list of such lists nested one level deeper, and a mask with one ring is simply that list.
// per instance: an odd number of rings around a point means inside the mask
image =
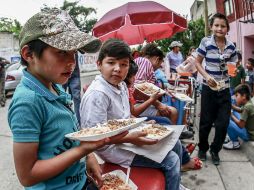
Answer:
[{"label": "standing boy in blue-and-white striped polo and black pants", "polygon": [[[226,38],[229,22],[223,14],[216,13],[210,22],[212,35],[204,37],[197,49],[197,57],[189,57],[194,61],[198,72],[204,77],[201,94],[201,115],[199,125],[198,157],[206,160],[206,152],[210,154],[214,165],[220,164],[219,152],[227,134],[231,112],[231,96],[227,62],[236,63],[237,55],[234,44]],[[205,60],[205,68],[202,61]],[[215,136],[209,146],[208,136],[212,126]]]}]

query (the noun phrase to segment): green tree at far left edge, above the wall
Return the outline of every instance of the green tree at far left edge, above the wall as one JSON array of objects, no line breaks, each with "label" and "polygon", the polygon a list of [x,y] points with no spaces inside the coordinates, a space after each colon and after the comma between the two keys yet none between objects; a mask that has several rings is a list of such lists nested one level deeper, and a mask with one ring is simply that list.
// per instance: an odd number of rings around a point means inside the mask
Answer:
[{"label": "green tree at far left edge, above the wall", "polygon": [[21,31],[21,27],[20,22],[16,19],[0,18],[0,32],[11,32],[17,37]]}]

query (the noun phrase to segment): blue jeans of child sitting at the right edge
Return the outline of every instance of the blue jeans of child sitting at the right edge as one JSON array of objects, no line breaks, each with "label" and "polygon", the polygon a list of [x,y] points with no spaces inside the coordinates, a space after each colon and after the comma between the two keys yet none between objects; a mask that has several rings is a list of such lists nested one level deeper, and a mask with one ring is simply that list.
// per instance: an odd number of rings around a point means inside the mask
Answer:
[{"label": "blue jeans of child sitting at the right edge", "polygon": [[[240,114],[238,112],[233,112],[233,114],[237,117],[237,119],[240,119]],[[230,140],[233,142],[238,141],[238,137],[240,137],[244,141],[249,140],[246,128],[238,127],[238,125],[232,119],[230,119],[228,125],[228,136]]]}]

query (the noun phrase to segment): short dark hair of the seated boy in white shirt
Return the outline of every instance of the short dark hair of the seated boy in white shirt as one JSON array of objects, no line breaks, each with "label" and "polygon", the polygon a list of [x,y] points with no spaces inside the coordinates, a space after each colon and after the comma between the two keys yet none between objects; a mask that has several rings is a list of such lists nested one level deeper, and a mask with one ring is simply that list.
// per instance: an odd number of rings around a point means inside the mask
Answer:
[{"label": "short dark hair of the seated boy in white shirt", "polygon": [[98,61],[102,61],[105,57],[115,57],[117,59],[129,58],[132,59],[131,49],[122,40],[109,39],[105,41],[100,49]]}]

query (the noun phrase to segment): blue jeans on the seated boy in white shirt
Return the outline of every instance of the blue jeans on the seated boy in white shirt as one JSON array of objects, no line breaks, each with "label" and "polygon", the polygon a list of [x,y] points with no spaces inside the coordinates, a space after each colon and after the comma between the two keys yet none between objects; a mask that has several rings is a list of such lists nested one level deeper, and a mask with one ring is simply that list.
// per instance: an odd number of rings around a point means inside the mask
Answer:
[{"label": "blue jeans on the seated boy in white shirt", "polygon": [[157,163],[144,156],[137,155],[134,157],[131,166],[157,168],[162,170],[166,180],[165,190],[179,190],[181,181],[181,158],[182,145],[178,141],[172,151],[169,151],[167,156],[161,163]]}]

